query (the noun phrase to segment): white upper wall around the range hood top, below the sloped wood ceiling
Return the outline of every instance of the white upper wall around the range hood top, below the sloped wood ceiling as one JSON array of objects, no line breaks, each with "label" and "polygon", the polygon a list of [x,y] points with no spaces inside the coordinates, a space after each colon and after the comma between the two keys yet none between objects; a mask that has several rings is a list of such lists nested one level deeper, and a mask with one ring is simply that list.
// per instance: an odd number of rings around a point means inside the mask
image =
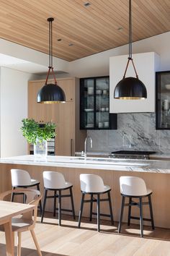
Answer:
[{"label": "white upper wall around the range hood top, below the sloped wood ceiling", "polygon": [[[170,70],[170,32],[133,43],[133,54],[150,51],[156,52],[161,57],[160,71]],[[69,64],[69,75],[72,77],[109,75],[109,57],[122,54],[128,54],[128,45],[71,61]]]}]

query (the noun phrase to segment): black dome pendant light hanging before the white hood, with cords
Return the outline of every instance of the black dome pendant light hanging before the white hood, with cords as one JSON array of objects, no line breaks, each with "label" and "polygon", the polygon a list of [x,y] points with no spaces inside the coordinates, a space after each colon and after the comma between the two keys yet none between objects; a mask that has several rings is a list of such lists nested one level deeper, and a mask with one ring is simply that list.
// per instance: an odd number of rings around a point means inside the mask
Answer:
[{"label": "black dome pendant light hanging before the white hood, with cords", "polygon": [[[125,77],[128,65],[132,61],[136,77]],[[147,98],[146,86],[138,79],[138,74],[135,69],[132,58],[132,17],[131,17],[131,0],[129,0],[129,57],[128,64],[125,69],[125,74],[117,83],[114,92],[114,98],[120,100],[141,100]]]}]

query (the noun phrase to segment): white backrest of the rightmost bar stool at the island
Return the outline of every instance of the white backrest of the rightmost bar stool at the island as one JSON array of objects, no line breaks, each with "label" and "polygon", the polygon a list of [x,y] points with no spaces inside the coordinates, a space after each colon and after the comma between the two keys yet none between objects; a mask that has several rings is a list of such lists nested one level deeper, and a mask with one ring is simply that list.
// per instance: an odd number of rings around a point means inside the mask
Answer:
[{"label": "white backrest of the rightmost bar stool at the island", "polygon": [[120,192],[123,195],[147,195],[146,183],[143,179],[134,176],[120,177]]}]

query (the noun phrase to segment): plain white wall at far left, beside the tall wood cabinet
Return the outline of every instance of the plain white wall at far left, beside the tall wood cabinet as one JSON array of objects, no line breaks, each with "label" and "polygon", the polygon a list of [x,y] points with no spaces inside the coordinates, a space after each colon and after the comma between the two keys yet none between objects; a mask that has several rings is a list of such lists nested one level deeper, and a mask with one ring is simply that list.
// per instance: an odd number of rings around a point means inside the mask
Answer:
[{"label": "plain white wall at far left, beside the tall wood cabinet", "polygon": [[27,117],[27,82],[37,75],[1,67],[1,157],[27,154],[27,142],[19,128]]}]

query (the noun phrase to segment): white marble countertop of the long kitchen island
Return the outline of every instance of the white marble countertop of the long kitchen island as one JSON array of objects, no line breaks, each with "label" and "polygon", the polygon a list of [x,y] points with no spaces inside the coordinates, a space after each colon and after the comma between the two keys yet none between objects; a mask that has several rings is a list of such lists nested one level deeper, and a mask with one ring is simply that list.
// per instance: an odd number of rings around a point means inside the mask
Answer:
[{"label": "white marble countertop of the long kitchen island", "polygon": [[170,174],[170,161],[135,160],[118,158],[84,158],[71,156],[47,156],[36,158],[35,155],[19,155],[0,158],[0,163],[14,163],[32,166],[58,166],[65,168],[91,168],[110,171],[139,171]]}]

